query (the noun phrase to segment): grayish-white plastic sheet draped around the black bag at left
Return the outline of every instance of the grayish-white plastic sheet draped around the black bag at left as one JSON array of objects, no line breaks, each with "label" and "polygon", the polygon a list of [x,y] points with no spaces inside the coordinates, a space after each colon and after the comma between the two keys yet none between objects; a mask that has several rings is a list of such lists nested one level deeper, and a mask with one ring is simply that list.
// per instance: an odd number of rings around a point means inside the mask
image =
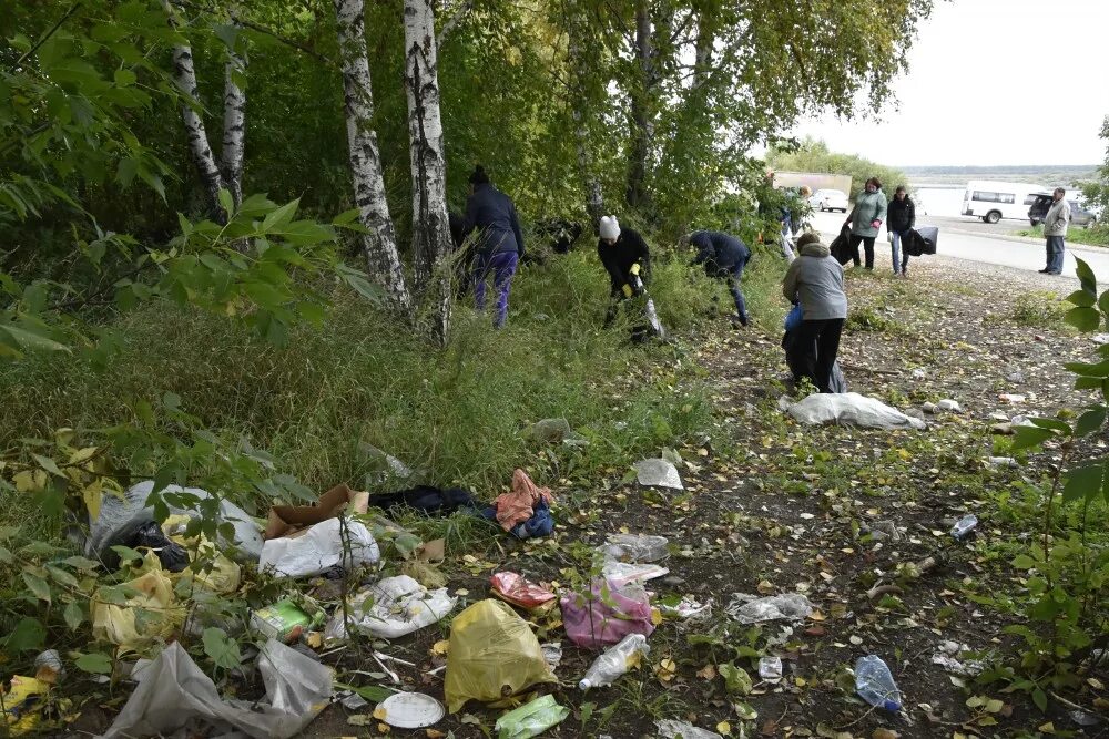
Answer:
[{"label": "grayish-white plastic sheet draped around the black bag at left", "polygon": [[[146,505],[146,500],[154,490],[154,481],[146,480],[132,485],[119,495],[104,495],[100,507],[90,524],[89,538],[85,542],[85,555],[98,558],[112,569],[119,565],[119,555],[112,546],[123,544],[132,546],[136,533],[142,530],[155,535],[160,541],[153,546],[165,546],[166,538],[154,521],[154,506]],[[201,516],[200,501],[212,499],[212,494],[200,487],[182,487],[166,485],[159,493],[171,514],[182,514],[190,517]],[[205,512],[208,506],[204,506]],[[207,513],[206,513],[207,514]],[[211,515],[211,514],[207,514]],[[246,511],[234,503],[221,500],[218,510],[214,513],[217,523],[230,523],[234,528],[231,540],[224,537],[225,526],[220,526],[217,545],[220,551],[228,552],[238,562],[257,562],[262,553],[262,532]],[[153,528],[150,527],[153,524]],[[140,545],[146,546],[140,542]],[[185,560],[187,564],[187,558]],[[173,569],[180,571],[184,565]],[[169,567],[167,567],[169,568]]]}]

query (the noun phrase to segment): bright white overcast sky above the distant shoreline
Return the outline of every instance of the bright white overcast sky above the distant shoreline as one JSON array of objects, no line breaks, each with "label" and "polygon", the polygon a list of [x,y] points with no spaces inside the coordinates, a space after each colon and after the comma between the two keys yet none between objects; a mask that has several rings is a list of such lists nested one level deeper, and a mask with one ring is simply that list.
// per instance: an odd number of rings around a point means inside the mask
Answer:
[{"label": "bright white overcast sky above the distant shoreline", "polygon": [[889,165],[1095,164],[1109,114],[1109,0],[937,1],[881,120],[793,133]]}]

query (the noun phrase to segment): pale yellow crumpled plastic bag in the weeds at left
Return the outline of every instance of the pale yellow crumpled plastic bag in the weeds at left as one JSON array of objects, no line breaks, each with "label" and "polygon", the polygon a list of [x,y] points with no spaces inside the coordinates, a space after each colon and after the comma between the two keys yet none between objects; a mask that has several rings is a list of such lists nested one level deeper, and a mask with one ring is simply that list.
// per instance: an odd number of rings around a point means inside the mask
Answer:
[{"label": "pale yellow crumpled plastic bag in the weeds at left", "polygon": [[[143,561],[145,572],[124,583],[138,593],[125,605],[110,602],[104,588],[92,598],[92,636],[124,649],[139,649],[155,639],[169,638],[185,619],[185,609],[173,595],[173,583],[151,552]],[[115,601],[112,598],[111,601]]]}]

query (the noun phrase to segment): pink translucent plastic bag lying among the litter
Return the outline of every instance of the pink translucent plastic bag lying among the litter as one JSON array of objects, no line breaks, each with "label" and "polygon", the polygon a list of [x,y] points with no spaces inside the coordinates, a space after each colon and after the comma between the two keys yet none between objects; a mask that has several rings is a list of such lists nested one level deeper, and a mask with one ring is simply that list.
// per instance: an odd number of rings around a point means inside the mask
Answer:
[{"label": "pink translucent plastic bag lying among the litter", "polygon": [[638,583],[617,587],[598,578],[589,593],[569,592],[562,596],[562,623],[570,640],[579,647],[600,649],[629,634],[650,636],[651,599]]}]

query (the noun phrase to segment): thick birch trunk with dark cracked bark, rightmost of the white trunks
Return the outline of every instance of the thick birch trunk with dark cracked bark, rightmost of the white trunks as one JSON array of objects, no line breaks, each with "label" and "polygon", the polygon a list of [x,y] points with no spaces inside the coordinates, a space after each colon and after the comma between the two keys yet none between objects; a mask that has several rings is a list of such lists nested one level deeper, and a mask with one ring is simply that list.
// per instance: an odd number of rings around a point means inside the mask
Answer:
[{"label": "thick birch trunk with dark cracked bark, rightmost of the white trunks", "polygon": [[[446,343],[450,326],[450,252],[447,215],[447,162],[439,115],[439,75],[435,12],[428,0],[405,0],[405,91],[413,178],[413,253],[417,290],[431,288],[433,336]],[[434,285],[433,285],[434,281]]]}]

